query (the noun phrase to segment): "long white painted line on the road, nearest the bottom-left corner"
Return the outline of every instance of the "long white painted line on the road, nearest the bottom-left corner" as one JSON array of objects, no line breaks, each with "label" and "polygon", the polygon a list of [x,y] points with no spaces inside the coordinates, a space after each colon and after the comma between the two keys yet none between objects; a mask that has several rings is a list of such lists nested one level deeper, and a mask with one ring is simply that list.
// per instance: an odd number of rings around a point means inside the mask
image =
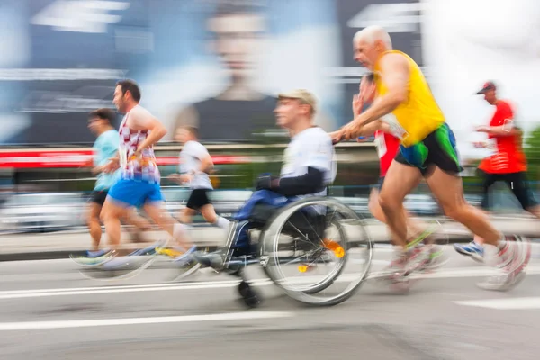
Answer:
[{"label": "long white painted line on the road, nearest the bottom-left corner", "polygon": [[154,318],[2,322],[0,323],[0,331],[89,328],[89,327],[121,326],[121,325],[165,324],[165,323],[175,323],[175,322],[277,319],[277,318],[287,318],[287,317],[293,317],[293,316],[294,316],[293,312],[245,311],[245,312],[229,312],[229,313],[221,313],[221,314],[185,315],[185,316],[154,317]]}]

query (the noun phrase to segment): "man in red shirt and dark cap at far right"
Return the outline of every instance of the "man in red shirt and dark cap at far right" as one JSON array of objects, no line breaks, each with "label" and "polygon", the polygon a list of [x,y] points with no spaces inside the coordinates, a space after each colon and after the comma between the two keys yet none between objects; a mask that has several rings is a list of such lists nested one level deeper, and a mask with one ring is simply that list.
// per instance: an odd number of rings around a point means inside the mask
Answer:
[{"label": "man in red shirt and dark cap at far right", "polygon": [[[495,106],[490,126],[480,126],[476,130],[488,134],[485,142],[476,142],[477,148],[491,150],[489,157],[480,163],[483,177],[482,209],[489,209],[489,191],[492,184],[504,181],[518,199],[521,207],[540,218],[540,206],[527,186],[527,158],[522,148],[522,132],[514,119],[514,111],[508,101],[497,98],[497,86],[489,81],[476,94],[483,94],[485,101]],[[475,237],[466,245],[455,244],[460,254],[483,261],[483,239]]]}]

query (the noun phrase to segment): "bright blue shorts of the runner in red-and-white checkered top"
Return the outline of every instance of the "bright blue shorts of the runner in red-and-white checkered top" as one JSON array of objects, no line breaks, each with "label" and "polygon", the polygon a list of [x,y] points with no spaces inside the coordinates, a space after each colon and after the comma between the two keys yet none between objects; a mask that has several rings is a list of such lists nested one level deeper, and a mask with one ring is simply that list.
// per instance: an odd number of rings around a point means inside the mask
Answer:
[{"label": "bright blue shorts of the runner in red-and-white checkered top", "polygon": [[141,207],[147,202],[161,202],[164,199],[159,184],[121,179],[112,185],[109,197],[124,205]]}]

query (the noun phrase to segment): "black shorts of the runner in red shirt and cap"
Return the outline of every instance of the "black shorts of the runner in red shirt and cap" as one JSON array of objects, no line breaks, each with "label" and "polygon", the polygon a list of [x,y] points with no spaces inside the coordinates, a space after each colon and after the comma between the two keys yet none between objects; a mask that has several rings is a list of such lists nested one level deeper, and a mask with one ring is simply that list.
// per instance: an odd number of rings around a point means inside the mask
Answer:
[{"label": "black shorts of the runner in red shirt and cap", "polygon": [[482,208],[489,209],[490,206],[490,187],[498,181],[504,181],[518,199],[523,210],[527,210],[538,205],[535,194],[531,191],[527,184],[527,174],[525,172],[510,173],[510,174],[488,174],[479,170],[483,177],[483,198]]}]

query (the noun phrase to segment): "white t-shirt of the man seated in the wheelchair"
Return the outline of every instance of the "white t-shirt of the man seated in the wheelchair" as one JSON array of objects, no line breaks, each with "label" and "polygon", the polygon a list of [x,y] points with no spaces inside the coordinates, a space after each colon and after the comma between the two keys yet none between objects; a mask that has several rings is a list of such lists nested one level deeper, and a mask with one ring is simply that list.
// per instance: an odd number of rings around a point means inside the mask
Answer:
[{"label": "white t-shirt of the man seated in the wheelchair", "polygon": [[[303,130],[291,139],[285,149],[281,177],[302,176],[307,174],[308,167],[314,167],[323,172],[325,186],[332,184],[337,173],[335,157],[332,139],[326,131],[318,127]],[[320,193],[299,197],[326,194],[325,187]]]}]

